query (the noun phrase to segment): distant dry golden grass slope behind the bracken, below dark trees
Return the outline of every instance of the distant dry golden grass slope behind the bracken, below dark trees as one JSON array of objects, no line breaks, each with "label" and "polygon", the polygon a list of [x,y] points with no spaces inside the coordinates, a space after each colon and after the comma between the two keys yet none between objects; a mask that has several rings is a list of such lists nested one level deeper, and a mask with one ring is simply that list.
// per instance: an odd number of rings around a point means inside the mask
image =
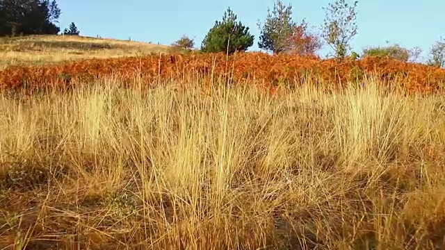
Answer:
[{"label": "distant dry golden grass slope behind the bracken, below dark trees", "polygon": [[70,35],[0,38],[0,69],[9,65],[46,65],[67,60],[115,58],[168,52],[170,47],[145,42]]}]

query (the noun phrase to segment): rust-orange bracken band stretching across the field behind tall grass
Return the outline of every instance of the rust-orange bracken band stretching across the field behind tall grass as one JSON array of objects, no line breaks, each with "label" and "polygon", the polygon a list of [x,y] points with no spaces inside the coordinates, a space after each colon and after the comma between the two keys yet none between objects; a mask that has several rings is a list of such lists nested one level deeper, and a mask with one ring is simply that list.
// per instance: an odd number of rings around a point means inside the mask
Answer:
[{"label": "rust-orange bracken band stretching across the field behind tall grass", "polygon": [[[332,89],[362,79],[373,73],[384,83],[400,79],[402,90],[408,93],[430,94],[445,88],[445,69],[416,63],[403,63],[388,58],[366,57],[361,60],[321,60],[316,56],[273,55],[266,53],[190,53],[186,55],[151,55],[143,57],[80,60],[61,65],[39,67],[11,66],[0,72],[1,88],[29,88],[69,85],[72,79],[88,80],[97,76],[118,74],[125,83],[134,76],[144,83],[159,79],[204,76],[207,81],[220,78],[232,83],[254,80],[268,88],[277,83],[309,82],[331,85]],[[209,77],[207,77],[209,76]],[[309,78],[309,79],[308,79]]]}]

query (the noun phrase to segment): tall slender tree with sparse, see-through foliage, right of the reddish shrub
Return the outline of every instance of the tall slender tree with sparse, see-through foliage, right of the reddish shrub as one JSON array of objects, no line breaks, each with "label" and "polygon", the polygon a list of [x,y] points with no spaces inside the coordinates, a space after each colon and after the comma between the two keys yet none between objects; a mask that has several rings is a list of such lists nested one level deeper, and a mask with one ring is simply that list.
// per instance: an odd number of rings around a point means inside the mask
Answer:
[{"label": "tall slender tree with sparse, see-through foliage, right of the reddish shrub", "polygon": [[325,10],[325,22],[322,26],[322,37],[334,50],[334,56],[341,60],[348,55],[350,40],[357,35],[357,7],[358,1],[353,5],[346,0],[337,0],[330,3]]}]

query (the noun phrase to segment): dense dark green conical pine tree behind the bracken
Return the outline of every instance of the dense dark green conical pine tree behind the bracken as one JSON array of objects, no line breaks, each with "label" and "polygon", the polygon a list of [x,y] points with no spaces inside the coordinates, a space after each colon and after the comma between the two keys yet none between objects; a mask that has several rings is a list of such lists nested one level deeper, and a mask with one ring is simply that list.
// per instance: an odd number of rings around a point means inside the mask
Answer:
[{"label": "dense dark green conical pine tree behind the bracken", "polygon": [[234,12],[227,8],[223,21],[216,21],[201,44],[203,52],[223,52],[232,54],[235,51],[246,51],[253,45],[254,36],[249,28],[236,21]]}]

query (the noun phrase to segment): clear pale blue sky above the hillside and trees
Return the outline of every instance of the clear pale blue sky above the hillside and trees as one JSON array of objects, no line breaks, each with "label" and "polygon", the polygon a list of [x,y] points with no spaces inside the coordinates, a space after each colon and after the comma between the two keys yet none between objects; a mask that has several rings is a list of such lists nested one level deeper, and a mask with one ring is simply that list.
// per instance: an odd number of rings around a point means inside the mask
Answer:
[{"label": "clear pale blue sky above the hillside and trees", "polygon": [[[334,1],[334,0],[332,0]],[[222,19],[227,7],[250,27],[258,50],[257,20],[264,20],[267,8],[275,0],[58,0],[62,10],[60,26],[74,22],[81,35],[102,38],[171,44],[181,37],[195,37],[195,47],[209,28]],[[325,17],[323,6],[330,0],[286,1],[293,7],[293,19],[306,18],[310,25],[320,27]],[[353,3],[353,0],[348,2]],[[352,45],[361,52],[369,45],[385,45],[385,40],[403,47],[419,46],[423,56],[440,36],[445,37],[444,0],[359,0],[357,5],[358,34]],[[329,52],[325,47],[321,56]]]}]

